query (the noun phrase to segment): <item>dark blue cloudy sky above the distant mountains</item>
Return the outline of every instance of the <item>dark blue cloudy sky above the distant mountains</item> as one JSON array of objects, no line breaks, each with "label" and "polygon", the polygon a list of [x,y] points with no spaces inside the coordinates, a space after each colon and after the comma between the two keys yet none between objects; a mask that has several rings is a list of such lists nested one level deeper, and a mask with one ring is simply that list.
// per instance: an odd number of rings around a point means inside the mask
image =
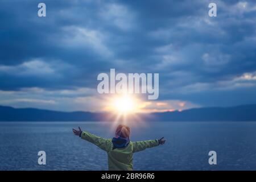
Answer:
[{"label": "dark blue cloudy sky above the distant mountains", "polygon": [[0,22],[0,105],[102,110],[110,68],[159,73],[144,109],[256,103],[255,1],[3,0]]}]

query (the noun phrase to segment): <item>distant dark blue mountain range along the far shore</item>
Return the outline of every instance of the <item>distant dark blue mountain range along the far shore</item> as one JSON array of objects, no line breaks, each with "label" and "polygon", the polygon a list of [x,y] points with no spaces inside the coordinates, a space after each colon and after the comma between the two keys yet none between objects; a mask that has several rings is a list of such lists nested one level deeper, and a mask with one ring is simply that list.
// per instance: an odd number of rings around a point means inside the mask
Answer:
[{"label": "distant dark blue mountain range along the far shore", "polygon": [[[144,121],[256,121],[256,104],[202,107],[184,111],[139,114]],[[111,121],[109,113],[63,112],[0,106],[0,121]]]}]

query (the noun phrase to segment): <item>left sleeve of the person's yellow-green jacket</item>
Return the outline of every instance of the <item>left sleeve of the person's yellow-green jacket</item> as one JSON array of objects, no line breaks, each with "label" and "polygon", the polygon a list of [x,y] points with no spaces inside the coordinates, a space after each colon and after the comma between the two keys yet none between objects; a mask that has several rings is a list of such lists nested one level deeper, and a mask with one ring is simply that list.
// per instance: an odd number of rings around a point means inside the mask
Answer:
[{"label": "left sleeve of the person's yellow-green jacket", "polygon": [[110,148],[112,146],[112,142],[110,139],[98,137],[96,135],[90,134],[87,131],[82,131],[81,138],[95,144],[106,152],[110,151]]}]

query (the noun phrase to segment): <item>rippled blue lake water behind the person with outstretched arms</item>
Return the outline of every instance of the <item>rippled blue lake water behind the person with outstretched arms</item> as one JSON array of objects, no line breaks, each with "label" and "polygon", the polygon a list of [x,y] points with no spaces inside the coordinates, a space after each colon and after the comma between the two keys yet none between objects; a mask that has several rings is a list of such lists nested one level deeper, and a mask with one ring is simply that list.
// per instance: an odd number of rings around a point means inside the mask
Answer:
[{"label": "rippled blue lake water behind the person with outstretched arms", "polygon": [[[0,170],[107,170],[107,155],[72,128],[112,138],[106,122],[0,122]],[[150,122],[131,126],[131,140],[165,137],[134,154],[135,170],[256,170],[256,122]],[[38,151],[46,151],[46,165]],[[209,165],[208,152],[217,152]]]}]

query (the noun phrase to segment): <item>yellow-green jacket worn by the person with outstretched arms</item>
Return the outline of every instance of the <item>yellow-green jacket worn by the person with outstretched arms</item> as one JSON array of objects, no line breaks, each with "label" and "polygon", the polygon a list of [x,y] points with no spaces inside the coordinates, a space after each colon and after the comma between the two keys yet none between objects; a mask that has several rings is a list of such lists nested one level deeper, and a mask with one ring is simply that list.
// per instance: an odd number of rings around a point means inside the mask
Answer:
[{"label": "yellow-green jacket worn by the person with outstretched arms", "polygon": [[130,142],[124,148],[113,150],[112,139],[97,137],[86,131],[82,131],[81,138],[95,144],[108,153],[109,170],[131,171],[133,170],[133,153],[145,150],[146,148],[158,146],[158,140],[146,140],[141,142]]}]

